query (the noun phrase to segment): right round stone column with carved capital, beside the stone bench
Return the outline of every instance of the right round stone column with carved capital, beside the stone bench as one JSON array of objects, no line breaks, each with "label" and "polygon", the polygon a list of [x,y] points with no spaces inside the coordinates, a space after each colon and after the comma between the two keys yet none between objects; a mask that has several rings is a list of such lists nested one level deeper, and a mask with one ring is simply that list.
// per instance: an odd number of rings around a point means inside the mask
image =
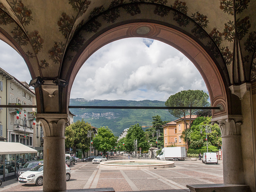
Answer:
[{"label": "right round stone column with carved capital, beside the stone bench", "polygon": [[242,115],[225,115],[212,119],[222,134],[223,181],[228,184],[244,184],[240,125]]}]

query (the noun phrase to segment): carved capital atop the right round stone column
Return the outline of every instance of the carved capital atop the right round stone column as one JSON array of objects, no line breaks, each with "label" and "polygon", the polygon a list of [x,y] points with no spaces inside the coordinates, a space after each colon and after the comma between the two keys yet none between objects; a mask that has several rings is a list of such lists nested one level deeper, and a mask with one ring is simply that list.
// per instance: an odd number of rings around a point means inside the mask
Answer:
[{"label": "carved capital atop the right round stone column", "polygon": [[218,124],[222,136],[240,136],[242,115],[224,115],[212,119],[212,124]]}]

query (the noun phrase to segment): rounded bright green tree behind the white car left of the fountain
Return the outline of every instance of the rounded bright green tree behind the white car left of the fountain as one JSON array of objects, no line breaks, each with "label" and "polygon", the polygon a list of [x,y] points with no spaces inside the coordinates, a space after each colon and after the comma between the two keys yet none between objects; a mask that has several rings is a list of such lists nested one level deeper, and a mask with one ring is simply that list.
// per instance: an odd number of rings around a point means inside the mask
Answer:
[{"label": "rounded bright green tree behind the white car left of the fountain", "polygon": [[117,138],[111,129],[103,126],[98,129],[98,135],[93,139],[93,145],[105,154],[107,150],[111,150],[116,146]]}]

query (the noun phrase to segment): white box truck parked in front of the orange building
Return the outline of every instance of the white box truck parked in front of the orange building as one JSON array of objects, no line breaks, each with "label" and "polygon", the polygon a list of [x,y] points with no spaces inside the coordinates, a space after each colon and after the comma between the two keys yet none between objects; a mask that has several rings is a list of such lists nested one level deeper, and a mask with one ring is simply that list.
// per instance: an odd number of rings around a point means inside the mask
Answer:
[{"label": "white box truck parked in front of the orange building", "polygon": [[184,146],[164,147],[157,156],[160,160],[185,160],[186,148]]}]

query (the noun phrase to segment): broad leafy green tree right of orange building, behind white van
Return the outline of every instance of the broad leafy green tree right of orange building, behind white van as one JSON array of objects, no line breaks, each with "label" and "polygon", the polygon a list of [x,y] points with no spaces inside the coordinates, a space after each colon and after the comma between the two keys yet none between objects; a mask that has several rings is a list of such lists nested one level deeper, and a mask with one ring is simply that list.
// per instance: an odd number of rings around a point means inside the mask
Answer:
[{"label": "broad leafy green tree right of orange building, behind white van", "polygon": [[[202,149],[206,148],[206,133],[204,127],[200,133],[201,125],[210,125],[211,117],[198,117],[196,118],[191,128],[182,132],[182,137],[188,140],[189,148]],[[212,125],[212,133],[207,134],[208,148],[220,148],[222,146],[221,132],[218,125]]]}]

